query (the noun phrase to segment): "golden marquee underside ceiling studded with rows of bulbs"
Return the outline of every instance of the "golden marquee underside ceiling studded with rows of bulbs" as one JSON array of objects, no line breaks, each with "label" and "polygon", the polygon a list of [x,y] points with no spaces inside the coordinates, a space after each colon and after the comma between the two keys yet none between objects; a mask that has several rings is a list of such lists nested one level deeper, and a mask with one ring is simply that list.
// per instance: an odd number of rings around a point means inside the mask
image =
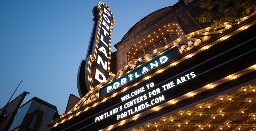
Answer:
[{"label": "golden marquee underside ceiling studded with rows of bulbs", "polygon": [[256,82],[239,87],[130,131],[256,130],[255,84]]}]

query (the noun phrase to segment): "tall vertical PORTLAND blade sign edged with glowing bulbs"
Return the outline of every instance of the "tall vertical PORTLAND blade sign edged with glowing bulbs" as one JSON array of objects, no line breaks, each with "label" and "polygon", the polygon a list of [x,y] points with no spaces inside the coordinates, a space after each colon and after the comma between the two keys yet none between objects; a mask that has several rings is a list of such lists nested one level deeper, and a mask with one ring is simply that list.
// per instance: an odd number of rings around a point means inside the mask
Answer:
[{"label": "tall vertical PORTLAND blade sign edged with glowing bulbs", "polygon": [[82,60],[77,74],[77,88],[80,97],[87,94],[110,75],[111,32],[115,19],[109,7],[99,2],[93,8],[94,26],[90,38],[86,62]]}]

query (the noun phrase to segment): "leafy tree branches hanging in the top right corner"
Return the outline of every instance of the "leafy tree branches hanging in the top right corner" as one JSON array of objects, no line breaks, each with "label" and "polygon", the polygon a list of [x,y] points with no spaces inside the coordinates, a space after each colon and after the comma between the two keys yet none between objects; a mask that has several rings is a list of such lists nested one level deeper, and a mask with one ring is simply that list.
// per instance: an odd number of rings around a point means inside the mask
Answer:
[{"label": "leafy tree branches hanging in the top right corner", "polygon": [[199,6],[204,10],[197,20],[211,23],[212,30],[216,30],[224,22],[235,24],[252,14],[256,9],[256,0],[202,0]]}]

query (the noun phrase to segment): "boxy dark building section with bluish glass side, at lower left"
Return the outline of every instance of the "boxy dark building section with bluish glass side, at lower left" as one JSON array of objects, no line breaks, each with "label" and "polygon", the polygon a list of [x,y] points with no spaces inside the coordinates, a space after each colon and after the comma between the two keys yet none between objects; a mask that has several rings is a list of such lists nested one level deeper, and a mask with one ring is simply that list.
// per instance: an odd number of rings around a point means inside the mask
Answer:
[{"label": "boxy dark building section with bluish glass side, at lower left", "polygon": [[9,131],[47,131],[47,125],[56,118],[56,112],[56,107],[34,97],[19,108]]}]

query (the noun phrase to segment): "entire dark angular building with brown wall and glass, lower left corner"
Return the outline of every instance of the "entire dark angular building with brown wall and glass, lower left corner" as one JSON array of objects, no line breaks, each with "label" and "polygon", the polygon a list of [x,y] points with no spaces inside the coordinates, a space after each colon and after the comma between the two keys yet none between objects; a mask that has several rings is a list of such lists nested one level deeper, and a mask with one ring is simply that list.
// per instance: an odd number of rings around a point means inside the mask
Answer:
[{"label": "entire dark angular building with brown wall and glass, lower left corner", "polygon": [[27,94],[23,92],[0,110],[0,131],[48,131],[47,125],[59,118],[56,106],[37,97],[21,105]]}]

